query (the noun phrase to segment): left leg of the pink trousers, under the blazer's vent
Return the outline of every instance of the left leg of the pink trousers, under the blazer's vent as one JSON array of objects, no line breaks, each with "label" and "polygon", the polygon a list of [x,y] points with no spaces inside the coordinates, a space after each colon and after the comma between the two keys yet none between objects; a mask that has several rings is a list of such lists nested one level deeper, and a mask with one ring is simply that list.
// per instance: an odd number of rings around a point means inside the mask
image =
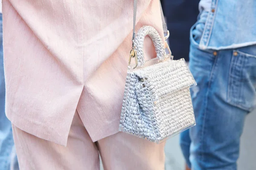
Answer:
[{"label": "left leg of the pink trousers, under the blazer's vent", "polygon": [[99,170],[99,153],[78,113],[67,147],[40,139],[13,126],[20,170]]}]

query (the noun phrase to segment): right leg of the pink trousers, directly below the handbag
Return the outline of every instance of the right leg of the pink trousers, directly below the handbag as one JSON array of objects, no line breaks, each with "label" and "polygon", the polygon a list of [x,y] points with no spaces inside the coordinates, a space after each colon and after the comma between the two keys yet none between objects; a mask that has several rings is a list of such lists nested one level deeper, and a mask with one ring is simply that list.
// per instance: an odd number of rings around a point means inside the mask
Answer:
[{"label": "right leg of the pink trousers, directly below the handbag", "polygon": [[104,170],[164,170],[165,142],[156,144],[119,132],[97,143]]}]

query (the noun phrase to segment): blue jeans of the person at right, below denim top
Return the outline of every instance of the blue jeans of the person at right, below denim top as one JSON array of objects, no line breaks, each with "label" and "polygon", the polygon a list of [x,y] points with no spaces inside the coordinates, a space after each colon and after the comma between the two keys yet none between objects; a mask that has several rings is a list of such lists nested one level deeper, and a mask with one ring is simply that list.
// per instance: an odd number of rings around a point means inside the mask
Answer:
[{"label": "blue jeans of the person at right, below denim top", "polygon": [[189,68],[196,126],[180,135],[193,170],[236,170],[244,119],[256,106],[256,45],[202,50],[205,17],[191,28]]}]

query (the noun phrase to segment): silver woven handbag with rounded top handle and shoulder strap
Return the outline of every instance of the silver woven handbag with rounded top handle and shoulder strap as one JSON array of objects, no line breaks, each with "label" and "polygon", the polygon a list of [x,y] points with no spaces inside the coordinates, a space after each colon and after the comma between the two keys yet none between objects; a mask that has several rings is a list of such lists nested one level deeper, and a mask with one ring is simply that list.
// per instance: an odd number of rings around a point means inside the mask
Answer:
[{"label": "silver woven handbag with rounded top handle and shoulder strap", "polygon": [[[134,11],[135,17],[136,0]],[[157,58],[145,62],[143,43],[147,35],[154,43]],[[167,43],[166,47],[169,48]],[[167,55],[160,34],[153,27],[143,26],[136,38],[134,34],[120,131],[160,143],[195,125],[189,92],[189,88],[196,84],[195,79],[185,60],[172,60],[171,51],[168,51]],[[135,66],[131,66],[132,58]]]}]

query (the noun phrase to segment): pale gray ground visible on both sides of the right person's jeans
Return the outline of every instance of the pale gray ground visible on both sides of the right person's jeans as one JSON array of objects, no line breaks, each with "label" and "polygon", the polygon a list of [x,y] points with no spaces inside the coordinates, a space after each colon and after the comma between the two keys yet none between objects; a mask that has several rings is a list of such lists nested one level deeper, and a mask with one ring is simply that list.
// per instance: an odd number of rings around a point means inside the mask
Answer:
[{"label": "pale gray ground visible on both sides of the right person's jeans", "polygon": [[[238,170],[256,170],[256,111],[247,116],[241,138]],[[101,165],[102,166],[102,165]],[[184,170],[185,160],[179,146],[179,136],[166,143],[166,170]],[[101,168],[103,170],[103,168]]]}]

